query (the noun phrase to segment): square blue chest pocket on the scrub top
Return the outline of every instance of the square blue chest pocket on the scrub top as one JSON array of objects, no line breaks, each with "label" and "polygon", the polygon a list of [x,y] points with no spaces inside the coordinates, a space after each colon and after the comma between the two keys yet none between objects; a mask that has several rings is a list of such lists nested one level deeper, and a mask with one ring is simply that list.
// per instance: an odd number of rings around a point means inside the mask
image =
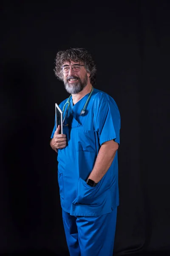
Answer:
[{"label": "square blue chest pocket on the scrub top", "polygon": [[76,151],[96,152],[96,136],[94,131],[77,129]]}]

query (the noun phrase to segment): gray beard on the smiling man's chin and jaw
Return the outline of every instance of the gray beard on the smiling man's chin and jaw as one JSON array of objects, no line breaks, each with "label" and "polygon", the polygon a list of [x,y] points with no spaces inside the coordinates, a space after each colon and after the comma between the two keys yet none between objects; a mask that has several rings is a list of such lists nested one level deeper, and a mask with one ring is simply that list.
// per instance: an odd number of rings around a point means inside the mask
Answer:
[{"label": "gray beard on the smiling man's chin and jaw", "polygon": [[70,94],[77,94],[81,92],[88,84],[88,76],[85,76],[85,79],[81,81],[79,78],[74,83],[69,84],[68,81],[64,82],[65,90]]}]

